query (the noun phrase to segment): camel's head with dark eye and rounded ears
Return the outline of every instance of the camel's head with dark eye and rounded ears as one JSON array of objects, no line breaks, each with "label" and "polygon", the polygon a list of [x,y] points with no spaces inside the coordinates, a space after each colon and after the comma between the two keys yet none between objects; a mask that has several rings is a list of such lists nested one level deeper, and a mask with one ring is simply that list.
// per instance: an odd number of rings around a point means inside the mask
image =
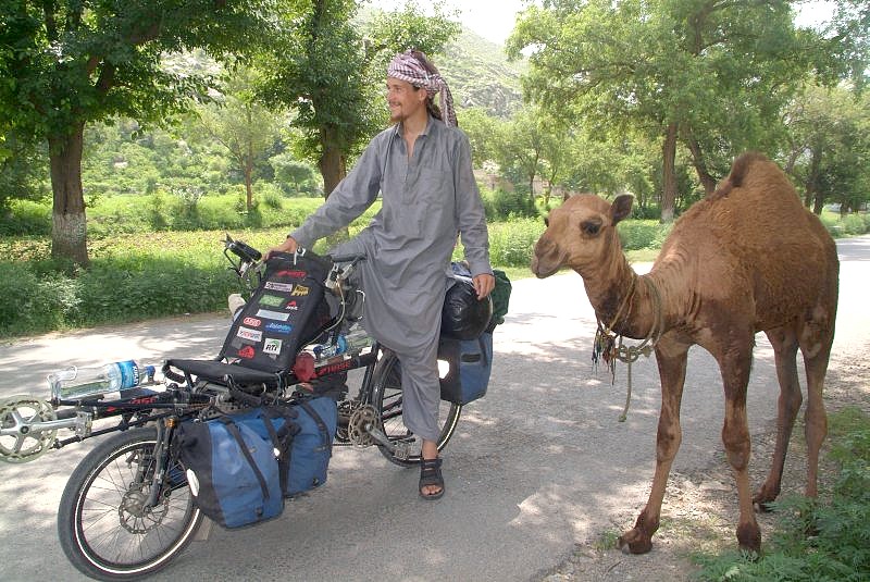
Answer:
[{"label": "camel's head with dark eye and rounded ears", "polygon": [[538,278],[562,267],[581,272],[613,249],[621,251],[617,224],[629,216],[632,201],[629,195],[618,196],[612,205],[589,194],[570,197],[544,220],[547,230],[535,244],[532,272]]}]

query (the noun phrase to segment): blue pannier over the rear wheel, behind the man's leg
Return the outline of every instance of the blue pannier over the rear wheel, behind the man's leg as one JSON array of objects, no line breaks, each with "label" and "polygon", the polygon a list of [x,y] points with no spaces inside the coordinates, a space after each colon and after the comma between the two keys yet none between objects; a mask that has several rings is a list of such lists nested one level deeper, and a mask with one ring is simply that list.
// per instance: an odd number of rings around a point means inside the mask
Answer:
[{"label": "blue pannier over the rear wheel, behind the man's leg", "polygon": [[493,370],[493,334],[484,332],[474,339],[442,336],[438,359],[449,364],[440,380],[442,400],[467,405],[482,398]]}]

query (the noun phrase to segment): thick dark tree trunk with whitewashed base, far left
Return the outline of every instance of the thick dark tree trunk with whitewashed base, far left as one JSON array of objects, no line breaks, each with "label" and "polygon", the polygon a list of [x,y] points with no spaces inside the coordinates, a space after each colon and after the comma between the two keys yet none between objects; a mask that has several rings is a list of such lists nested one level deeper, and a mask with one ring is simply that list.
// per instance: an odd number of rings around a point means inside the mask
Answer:
[{"label": "thick dark tree trunk with whitewashed base, far left", "polygon": [[77,123],[71,134],[50,136],[48,143],[53,193],[51,258],[87,265],[87,219],[82,188],[84,132],[85,124]]}]

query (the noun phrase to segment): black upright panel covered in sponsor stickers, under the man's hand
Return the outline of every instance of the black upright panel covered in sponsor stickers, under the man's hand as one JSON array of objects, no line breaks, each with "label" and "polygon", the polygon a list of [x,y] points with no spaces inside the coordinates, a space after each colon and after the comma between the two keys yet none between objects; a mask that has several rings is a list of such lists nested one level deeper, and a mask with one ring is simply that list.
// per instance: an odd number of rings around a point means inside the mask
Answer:
[{"label": "black upright panel covered in sponsor stickers, under the man's hand", "polygon": [[219,358],[264,372],[287,372],[299,348],[330,319],[324,297],[328,265],[308,255],[276,252],[236,317]]}]

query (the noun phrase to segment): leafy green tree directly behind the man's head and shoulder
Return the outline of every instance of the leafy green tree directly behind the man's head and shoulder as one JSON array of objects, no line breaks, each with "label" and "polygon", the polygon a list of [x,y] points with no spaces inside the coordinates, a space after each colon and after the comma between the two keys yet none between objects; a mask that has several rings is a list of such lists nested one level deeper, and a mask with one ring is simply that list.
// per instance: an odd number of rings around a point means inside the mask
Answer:
[{"label": "leafy green tree directly behind the man's head and shoulder", "polygon": [[408,48],[437,53],[458,32],[439,12],[422,16],[409,3],[355,26],[355,0],[281,0],[281,29],[259,67],[262,94],[296,113],[294,125],[323,176],[328,197],[347,173],[348,158],[385,122],[385,59]]}]

